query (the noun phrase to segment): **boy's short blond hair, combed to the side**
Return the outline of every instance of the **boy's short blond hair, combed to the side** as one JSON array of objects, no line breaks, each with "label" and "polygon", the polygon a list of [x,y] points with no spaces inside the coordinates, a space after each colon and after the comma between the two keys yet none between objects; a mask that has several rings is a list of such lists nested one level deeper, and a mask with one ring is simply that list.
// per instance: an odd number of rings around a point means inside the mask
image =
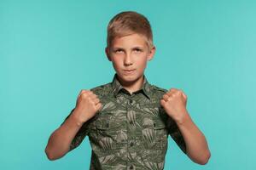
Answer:
[{"label": "boy's short blond hair, combed to the side", "polygon": [[152,48],[153,34],[148,19],[135,11],[124,11],[113,16],[108,23],[107,46],[111,47],[115,37],[124,37],[133,33],[146,37],[148,48]]}]

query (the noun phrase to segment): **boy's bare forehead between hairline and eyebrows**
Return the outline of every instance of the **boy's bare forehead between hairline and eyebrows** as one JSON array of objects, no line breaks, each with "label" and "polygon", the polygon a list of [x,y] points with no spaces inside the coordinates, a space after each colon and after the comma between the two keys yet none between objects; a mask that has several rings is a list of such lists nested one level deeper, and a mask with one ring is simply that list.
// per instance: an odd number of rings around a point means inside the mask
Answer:
[{"label": "boy's bare forehead between hairline and eyebrows", "polygon": [[146,47],[147,38],[141,34],[130,34],[123,37],[114,37],[112,42],[112,48],[119,47]]}]

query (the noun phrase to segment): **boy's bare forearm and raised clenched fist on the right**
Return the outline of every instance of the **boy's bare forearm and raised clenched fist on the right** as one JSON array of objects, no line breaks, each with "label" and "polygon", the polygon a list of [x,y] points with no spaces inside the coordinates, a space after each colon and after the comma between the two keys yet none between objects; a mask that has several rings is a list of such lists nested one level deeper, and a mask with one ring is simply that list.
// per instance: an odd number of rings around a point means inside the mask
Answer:
[{"label": "boy's bare forearm and raised clenched fist on the right", "polygon": [[186,110],[186,103],[187,96],[176,88],[171,88],[160,100],[160,104],[168,116],[172,117],[176,122],[178,129],[182,133],[189,158],[198,164],[204,165],[210,159],[211,153],[204,134],[201,133],[190,118]]}]

